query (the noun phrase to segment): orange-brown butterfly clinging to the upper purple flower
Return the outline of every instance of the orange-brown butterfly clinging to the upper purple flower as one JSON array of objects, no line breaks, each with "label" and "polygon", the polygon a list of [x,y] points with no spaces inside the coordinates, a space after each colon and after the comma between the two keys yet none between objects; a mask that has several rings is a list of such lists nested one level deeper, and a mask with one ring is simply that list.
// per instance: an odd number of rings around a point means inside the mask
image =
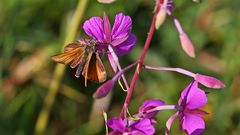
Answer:
[{"label": "orange-brown butterfly clinging to the upper purple flower", "polygon": [[77,67],[75,76],[78,78],[82,74],[87,80],[98,83],[104,82],[107,78],[106,70],[96,52],[97,42],[94,39],[80,39],[76,43],[70,43],[64,48],[64,52],[52,56],[52,60],[62,64],[70,64],[71,68]]}]

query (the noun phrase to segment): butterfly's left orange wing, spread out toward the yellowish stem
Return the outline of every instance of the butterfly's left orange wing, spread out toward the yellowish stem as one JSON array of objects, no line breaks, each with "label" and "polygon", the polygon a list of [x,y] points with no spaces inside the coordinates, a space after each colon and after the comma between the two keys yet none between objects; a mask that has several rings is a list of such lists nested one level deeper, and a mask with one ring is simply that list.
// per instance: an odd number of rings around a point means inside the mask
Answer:
[{"label": "butterfly's left orange wing, spread out toward the yellowish stem", "polygon": [[62,64],[70,64],[71,68],[75,68],[81,61],[85,52],[85,46],[77,43],[67,45],[64,52],[54,55],[52,60]]}]

